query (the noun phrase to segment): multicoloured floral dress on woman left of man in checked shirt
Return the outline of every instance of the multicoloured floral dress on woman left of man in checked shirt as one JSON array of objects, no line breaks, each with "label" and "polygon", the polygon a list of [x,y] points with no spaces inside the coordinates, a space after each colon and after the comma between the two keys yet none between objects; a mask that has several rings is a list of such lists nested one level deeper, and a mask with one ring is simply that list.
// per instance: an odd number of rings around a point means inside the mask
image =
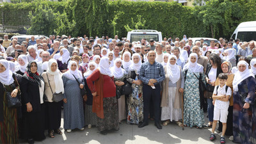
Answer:
[{"label": "multicoloured floral dress on woman left of man in checked shirt", "polygon": [[[127,74],[127,81],[132,83],[132,81],[138,80],[138,74],[135,71],[130,71]],[[137,85],[132,84],[132,93],[127,99],[128,104],[128,116],[127,124],[139,124],[143,121],[143,84]]]}]

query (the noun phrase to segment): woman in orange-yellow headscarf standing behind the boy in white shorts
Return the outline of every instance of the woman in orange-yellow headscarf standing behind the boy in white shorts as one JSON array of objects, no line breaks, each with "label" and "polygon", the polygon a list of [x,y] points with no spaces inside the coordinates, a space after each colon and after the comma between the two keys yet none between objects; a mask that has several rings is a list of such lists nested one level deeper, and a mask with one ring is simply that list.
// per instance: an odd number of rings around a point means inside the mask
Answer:
[{"label": "woman in orange-yellow headscarf standing behind the boy in white shorts", "polygon": [[[233,83],[233,79],[234,79],[234,74],[232,74],[231,69],[232,69],[232,65],[229,61],[224,61],[221,64],[221,70],[223,71],[223,73],[227,74],[227,76],[228,76],[228,79],[226,82],[227,86],[230,87],[233,92],[232,83]],[[220,84],[220,79],[217,78],[215,85],[218,86],[219,84]],[[215,102],[213,102],[213,103],[215,103]],[[221,122],[219,122],[218,131],[222,131],[222,123]],[[225,135],[233,136],[233,93],[229,99],[227,129],[226,129]]]}]

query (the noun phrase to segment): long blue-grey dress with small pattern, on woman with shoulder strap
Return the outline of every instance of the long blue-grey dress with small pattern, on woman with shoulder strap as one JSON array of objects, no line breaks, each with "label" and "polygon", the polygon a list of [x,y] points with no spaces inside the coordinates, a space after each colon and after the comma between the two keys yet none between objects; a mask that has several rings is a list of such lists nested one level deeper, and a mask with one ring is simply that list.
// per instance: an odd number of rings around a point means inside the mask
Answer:
[{"label": "long blue-grey dress with small pattern, on woman with shoulder strap", "polygon": [[[76,80],[63,76],[64,98],[63,103],[64,129],[82,129],[84,127],[83,97]],[[78,79],[80,81],[80,79]]]}]

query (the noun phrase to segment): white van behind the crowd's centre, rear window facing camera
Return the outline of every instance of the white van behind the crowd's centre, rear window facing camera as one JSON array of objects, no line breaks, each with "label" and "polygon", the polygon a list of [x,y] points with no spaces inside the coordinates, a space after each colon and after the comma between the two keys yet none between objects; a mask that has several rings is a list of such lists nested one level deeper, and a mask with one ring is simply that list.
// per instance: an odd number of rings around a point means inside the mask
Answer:
[{"label": "white van behind the crowd's centre, rear window facing camera", "polygon": [[162,33],[156,30],[137,29],[127,33],[127,40],[130,40],[130,42],[138,42],[141,41],[142,38],[146,38],[148,42],[150,39],[156,42],[162,42],[163,40]]}]

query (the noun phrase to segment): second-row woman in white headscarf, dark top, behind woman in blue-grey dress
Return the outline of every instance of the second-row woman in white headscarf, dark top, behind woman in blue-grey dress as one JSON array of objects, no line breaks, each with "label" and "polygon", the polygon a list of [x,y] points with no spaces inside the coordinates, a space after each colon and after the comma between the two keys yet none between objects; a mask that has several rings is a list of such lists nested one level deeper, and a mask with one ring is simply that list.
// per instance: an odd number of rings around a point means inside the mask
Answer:
[{"label": "second-row woman in white headscarf, dark top, behind woman in blue-grey dress", "polygon": [[58,68],[62,73],[67,72],[68,61],[70,61],[69,51],[63,48],[60,50],[60,58],[57,60]]}]

